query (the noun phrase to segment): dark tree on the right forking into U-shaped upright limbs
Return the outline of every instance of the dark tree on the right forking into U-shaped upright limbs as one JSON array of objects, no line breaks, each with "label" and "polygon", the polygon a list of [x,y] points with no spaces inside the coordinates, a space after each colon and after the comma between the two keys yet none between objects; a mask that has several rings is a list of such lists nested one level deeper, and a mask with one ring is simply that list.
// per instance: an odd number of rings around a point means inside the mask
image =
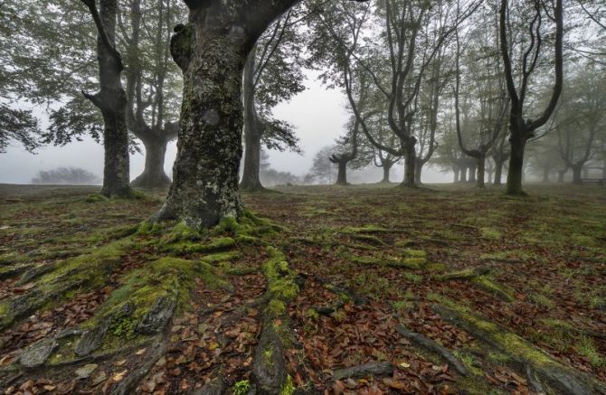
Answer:
[{"label": "dark tree on the right forking into U-shaped upright limbs", "polygon": [[[533,0],[529,5],[512,2],[516,5],[516,14],[512,15],[513,7],[509,0],[501,0],[499,10],[499,43],[507,92],[510,99],[509,109],[509,170],[507,173],[507,194],[525,194],[522,190],[524,174],[524,152],[527,141],[535,136],[535,130],[544,126],[554,112],[555,106],[563,87],[563,0],[555,0],[552,6],[543,0]],[[551,13],[550,14],[550,10]],[[511,21],[516,16],[517,32],[527,32],[519,42],[512,42]],[[543,113],[536,119],[526,118],[526,99],[531,78],[536,71],[538,61],[544,56],[544,38],[546,27],[544,19],[551,20],[555,25],[554,32],[554,90]],[[514,45],[519,43],[519,45]],[[517,56],[516,56],[517,55]],[[513,61],[514,56],[518,61]],[[514,70],[514,64],[519,64],[519,70]],[[518,73],[518,74],[516,74]],[[516,75],[519,84],[516,85]]]}]

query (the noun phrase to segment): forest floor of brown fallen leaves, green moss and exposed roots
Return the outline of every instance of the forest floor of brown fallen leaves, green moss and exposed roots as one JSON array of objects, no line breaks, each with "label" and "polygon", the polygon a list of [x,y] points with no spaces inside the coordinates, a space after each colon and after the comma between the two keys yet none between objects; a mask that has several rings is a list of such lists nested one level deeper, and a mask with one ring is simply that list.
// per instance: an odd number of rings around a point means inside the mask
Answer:
[{"label": "forest floor of brown fallen leaves, green moss and exposed roots", "polygon": [[0,185],[1,393],[606,393],[603,187],[95,192]]}]

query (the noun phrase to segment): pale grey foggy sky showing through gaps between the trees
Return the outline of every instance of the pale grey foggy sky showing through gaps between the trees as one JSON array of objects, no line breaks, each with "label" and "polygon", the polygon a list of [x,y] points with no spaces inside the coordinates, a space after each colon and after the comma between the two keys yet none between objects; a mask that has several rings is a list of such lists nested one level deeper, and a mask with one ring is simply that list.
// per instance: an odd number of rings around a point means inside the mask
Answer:
[{"label": "pale grey foggy sky showing through gaps between the trees", "polygon": [[[308,173],[314,155],[323,146],[330,145],[344,133],[347,121],[346,97],[338,90],[326,89],[310,73],[306,82],[308,89],[298,94],[289,103],[275,109],[277,118],[289,121],[297,127],[303,155],[291,152],[270,151],[270,164],[280,171],[303,175]],[[176,145],[171,143],[166,152],[166,173],[170,174],[176,156]],[[143,155],[131,155],[130,175],[137,177],[143,171]],[[99,176],[103,174],[103,146],[87,138],[67,146],[45,146],[37,155],[27,153],[23,146],[14,143],[6,154],[0,154],[0,183],[29,183],[40,170],[57,167],[81,167]],[[450,175],[423,169],[426,183],[448,182]],[[379,181],[380,172],[376,174]],[[393,181],[400,181],[402,169],[393,169]],[[369,180],[368,182],[373,182]]]}]

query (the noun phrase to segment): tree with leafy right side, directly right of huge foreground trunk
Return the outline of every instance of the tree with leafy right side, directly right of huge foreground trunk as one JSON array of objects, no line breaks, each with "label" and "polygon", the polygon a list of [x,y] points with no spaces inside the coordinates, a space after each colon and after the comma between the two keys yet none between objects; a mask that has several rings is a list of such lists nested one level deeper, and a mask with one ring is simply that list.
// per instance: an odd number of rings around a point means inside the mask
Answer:
[{"label": "tree with leafy right side, directly right of huge foreground trunk", "polygon": [[290,10],[261,35],[244,67],[244,173],[240,188],[256,191],[260,182],[261,142],[280,151],[300,152],[293,127],[273,119],[271,110],[305,89],[300,69],[301,40],[298,21]]}]

